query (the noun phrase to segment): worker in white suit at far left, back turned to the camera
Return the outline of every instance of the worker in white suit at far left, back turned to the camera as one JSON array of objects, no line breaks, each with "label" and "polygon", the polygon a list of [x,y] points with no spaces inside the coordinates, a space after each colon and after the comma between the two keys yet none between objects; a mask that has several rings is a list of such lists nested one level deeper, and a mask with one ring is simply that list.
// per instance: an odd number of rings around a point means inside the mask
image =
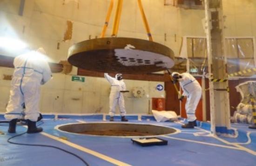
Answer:
[{"label": "worker in white suit at far left, back turned to the camera", "polygon": [[39,48],[36,51],[21,54],[13,61],[15,69],[11,82],[10,99],[5,113],[5,118],[10,120],[9,133],[16,132],[16,123],[22,116],[24,105],[26,106],[27,133],[42,131],[41,127],[36,127],[36,121],[40,116],[40,85],[52,78],[45,54],[44,49]]}]

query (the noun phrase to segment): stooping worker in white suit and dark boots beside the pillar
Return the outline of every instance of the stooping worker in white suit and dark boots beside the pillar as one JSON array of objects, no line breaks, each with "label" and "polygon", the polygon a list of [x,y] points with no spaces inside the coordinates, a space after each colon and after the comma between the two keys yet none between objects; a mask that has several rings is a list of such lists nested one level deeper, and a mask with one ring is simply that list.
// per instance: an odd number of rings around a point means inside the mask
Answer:
[{"label": "stooping worker in white suit and dark boots beside the pillar", "polygon": [[185,105],[188,123],[182,125],[182,128],[194,128],[196,126],[195,110],[202,96],[202,88],[199,82],[189,73],[172,73],[173,82],[179,82],[182,87],[183,94],[179,100],[183,100],[187,96]]}]

